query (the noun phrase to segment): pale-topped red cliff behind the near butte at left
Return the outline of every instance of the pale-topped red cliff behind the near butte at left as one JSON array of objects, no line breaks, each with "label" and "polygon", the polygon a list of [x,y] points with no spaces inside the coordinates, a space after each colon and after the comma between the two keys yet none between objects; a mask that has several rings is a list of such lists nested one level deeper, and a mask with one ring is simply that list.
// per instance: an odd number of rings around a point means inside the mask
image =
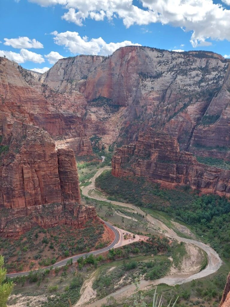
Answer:
[{"label": "pale-topped red cliff behind the near butte at left", "polygon": [[79,93],[54,91],[19,65],[0,58],[0,97],[0,124],[7,138],[11,138],[14,120],[20,120],[43,128],[63,143],[68,139],[75,153],[92,153],[84,130],[86,100]]}]

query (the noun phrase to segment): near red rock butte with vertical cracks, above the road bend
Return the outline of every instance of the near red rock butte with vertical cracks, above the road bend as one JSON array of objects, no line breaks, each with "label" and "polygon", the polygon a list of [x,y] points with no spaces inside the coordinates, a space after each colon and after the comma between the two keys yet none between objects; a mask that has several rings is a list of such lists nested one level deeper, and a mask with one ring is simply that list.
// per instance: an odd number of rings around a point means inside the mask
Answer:
[{"label": "near red rock butte with vertical cracks, above the road bend", "polygon": [[[1,154],[0,235],[19,235],[39,225],[83,227],[96,218],[94,207],[81,205],[74,152],[55,150],[43,129],[14,121],[10,145]],[[6,138],[3,138],[4,143]]]}]

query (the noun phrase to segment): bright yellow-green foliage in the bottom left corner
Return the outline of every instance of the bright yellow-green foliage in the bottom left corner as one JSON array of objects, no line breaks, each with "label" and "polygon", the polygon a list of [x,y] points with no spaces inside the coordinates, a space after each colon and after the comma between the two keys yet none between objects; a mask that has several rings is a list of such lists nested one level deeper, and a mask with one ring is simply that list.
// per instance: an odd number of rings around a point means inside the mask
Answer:
[{"label": "bright yellow-green foliage in the bottom left corner", "polygon": [[13,290],[13,282],[4,282],[6,278],[6,269],[3,268],[4,257],[0,255],[0,307],[6,307],[6,302]]}]

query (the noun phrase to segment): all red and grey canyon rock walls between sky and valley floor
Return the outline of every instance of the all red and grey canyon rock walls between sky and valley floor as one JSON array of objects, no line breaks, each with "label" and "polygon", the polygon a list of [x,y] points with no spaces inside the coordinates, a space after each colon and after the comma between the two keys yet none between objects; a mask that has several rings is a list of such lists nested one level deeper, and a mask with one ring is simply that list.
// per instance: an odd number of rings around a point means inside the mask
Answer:
[{"label": "all red and grey canyon rock walls between sky and valley floor", "polygon": [[75,161],[95,156],[92,137],[115,151],[114,176],[230,196],[230,171],[196,159],[230,161],[229,60],[216,53],[128,46],[44,74],[1,57],[0,99],[3,236],[96,218]]}]

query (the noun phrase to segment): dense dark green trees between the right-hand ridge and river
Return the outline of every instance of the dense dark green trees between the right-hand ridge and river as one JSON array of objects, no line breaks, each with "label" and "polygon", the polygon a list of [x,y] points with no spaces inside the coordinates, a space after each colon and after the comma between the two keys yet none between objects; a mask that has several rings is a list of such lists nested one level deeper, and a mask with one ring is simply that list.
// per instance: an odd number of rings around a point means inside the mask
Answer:
[{"label": "dense dark green trees between the right-hand ridge and river", "polygon": [[114,200],[163,211],[191,225],[224,258],[230,257],[230,202],[217,195],[198,196],[189,186],[160,189],[144,178],[117,178],[104,172],[96,185]]}]

